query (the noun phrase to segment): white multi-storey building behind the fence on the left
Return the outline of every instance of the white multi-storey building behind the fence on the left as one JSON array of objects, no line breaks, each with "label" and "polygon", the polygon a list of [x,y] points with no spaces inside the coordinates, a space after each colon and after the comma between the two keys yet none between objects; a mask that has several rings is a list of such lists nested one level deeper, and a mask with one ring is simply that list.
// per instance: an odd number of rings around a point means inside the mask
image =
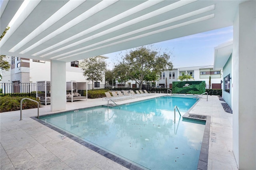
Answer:
[{"label": "white multi-storey building behind the fence on the left", "polygon": [[[103,55],[99,56],[107,59]],[[26,59],[20,57],[10,57],[10,70],[2,72],[1,83],[36,83],[37,81],[50,81],[50,61]],[[79,67],[82,60],[66,63],[66,81],[86,81]],[[104,84],[105,75],[102,82],[94,82],[95,87]],[[88,84],[92,84],[89,82]]]}]

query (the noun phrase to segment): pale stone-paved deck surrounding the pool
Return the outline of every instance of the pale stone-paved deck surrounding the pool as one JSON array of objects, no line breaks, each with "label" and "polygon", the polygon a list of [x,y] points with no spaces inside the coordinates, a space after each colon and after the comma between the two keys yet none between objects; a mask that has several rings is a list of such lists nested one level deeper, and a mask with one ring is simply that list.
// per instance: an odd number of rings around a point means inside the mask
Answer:
[{"label": "pale stone-paved deck surrounding the pool", "polygon": [[[118,101],[130,103],[158,97]],[[67,102],[66,111],[106,104],[106,100]],[[50,105],[40,108],[40,115],[54,113]],[[226,113],[217,96],[206,96],[190,111],[193,114],[210,115],[209,170],[238,169],[232,152],[232,114]],[[48,128],[30,117],[37,115],[37,109],[0,113],[0,169],[54,169],[54,170],[122,170],[124,166],[90,150],[70,138]]]}]

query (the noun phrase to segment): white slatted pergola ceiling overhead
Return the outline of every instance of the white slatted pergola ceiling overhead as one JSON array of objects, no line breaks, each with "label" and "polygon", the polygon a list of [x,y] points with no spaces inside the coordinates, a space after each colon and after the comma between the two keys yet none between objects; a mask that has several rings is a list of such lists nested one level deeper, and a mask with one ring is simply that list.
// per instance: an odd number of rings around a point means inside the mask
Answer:
[{"label": "white slatted pergola ceiling overhead", "polygon": [[[19,1],[8,1],[6,8],[11,2]],[[68,6],[68,0],[32,0],[0,41],[0,53],[66,62],[104,55],[232,26],[242,2],[104,0]],[[17,10],[1,11],[1,29]]]}]

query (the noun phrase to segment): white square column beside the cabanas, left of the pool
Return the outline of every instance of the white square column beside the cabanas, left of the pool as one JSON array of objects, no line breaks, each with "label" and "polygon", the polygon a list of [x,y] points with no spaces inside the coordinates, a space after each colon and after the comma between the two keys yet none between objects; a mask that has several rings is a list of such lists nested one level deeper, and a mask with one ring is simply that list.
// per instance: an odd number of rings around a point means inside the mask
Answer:
[{"label": "white square column beside the cabanas, left of the pool", "polygon": [[51,111],[66,109],[66,63],[51,60]]}]

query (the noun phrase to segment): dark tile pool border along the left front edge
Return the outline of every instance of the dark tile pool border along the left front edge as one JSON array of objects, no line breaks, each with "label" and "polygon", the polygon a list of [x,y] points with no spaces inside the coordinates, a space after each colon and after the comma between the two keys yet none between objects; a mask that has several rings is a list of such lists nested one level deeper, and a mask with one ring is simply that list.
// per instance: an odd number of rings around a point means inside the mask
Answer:
[{"label": "dark tile pool border along the left front edge", "polygon": [[78,143],[82,144],[83,146],[86,146],[87,148],[93,150],[94,152],[97,152],[98,154],[101,154],[102,156],[105,156],[106,158],[108,158],[108,159],[110,159],[110,160],[112,160],[112,161],[130,169],[130,170],[144,170],[144,169],[142,169],[142,168],[126,161],[126,160],[123,160],[122,158],[119,158],[118,156],[115,156],[115,155],[113,155],[109,152],[106,152],[105,150],[102,150],[102,149],[100,149],[100,148],[98,148],[98,147],[80,139],[80,138],[77,138],[76,136],[73,136],[72,134],[69,134],[69,133],[67,133],[67,132],[65,132],[65,131],[63,131],[59,128],[56,128],[56,127],[54,127],[54,126],[52,126],[48,123],[45,123],[44,121],[42,121],[40,119],[37,119],[37,117],[30,117],[30,118],[34,119],[35,121],[37,121],[37,122],[39,122],[43,125],[45,125],[46,127],[51,128],[52,130],[55,130],[56,132],[59,132],[60,134],[63,134],[64,136],[74,140],[75,142],[78,142]]}]

